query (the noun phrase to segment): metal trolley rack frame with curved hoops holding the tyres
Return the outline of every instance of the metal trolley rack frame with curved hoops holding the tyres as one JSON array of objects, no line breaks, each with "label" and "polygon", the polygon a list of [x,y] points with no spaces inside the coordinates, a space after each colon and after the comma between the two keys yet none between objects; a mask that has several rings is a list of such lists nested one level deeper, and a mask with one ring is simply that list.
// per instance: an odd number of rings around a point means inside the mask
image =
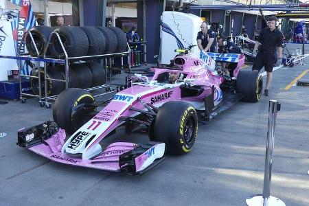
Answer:
[{"label": "metal trolley rack frame with curved hoops holding the tyres", "polygon": [[[36,50],[36,55],[37,57],[34,56],[29,56],[30,54],[26,54],[20,53],[21,50],[21,45],[25,46],[25,35],[29,34],[31,41],[32,41],[32,45],[34,45],[34,49]],[[65,50],[65,47],[61,41],[61,38],[59,36],[59,34],[57,32],[52,32],[52,34],[49,35],[48,41],[46,45],[49,45],[52,37],[56,35],[56,38],[58,38],[58,41],[61,45],[61,48],[65,54],[65,58],[64,59],[56,59],[56,58],[46,58],[46,53],[47,53],[47,49],[48,47],[45,47],[44,49],[44,53],[43,53],[43,57],[39,55],[38,52],[38,48],[36,47],[36,42],[34,41],[34,38],[31,34],[31,32],[25,32],[23,34],[23,38],[21,43],[19,44],[18,50],[17,50],[17,55],[16,56],[0,56],[0,58],[8,58],[8,59],[14,59],[17,60],[17,65],[19,67],[19,89],[20,89],[20,94],[21,94],[21,103],[25,103],[26,99],[24,97],[33,97],[33,98],[38,98],[38,102],[39,104],[43,107],[44,105],[47,108],[50,108],[52,106],[52,104],[49,102],[49,100],[56,100],[56,98],[58,97],[58,95],[52,95],[52,96],[48,96],[47,95],[47,80],[50,81],[58,81],[58,82],[65,82],[65,89],[69,89],[69,60],[84,60],[87,58],[104,58],[105,61],[105,84],[102,84],[100,86],[97,87],[91,87],[88,89],[85,89],[87,91],[93,91],[96,89],[102,89],[102,88],[106,88],[106,92],[105,93],[99,93],[98,95],[94,95],[93,97],[98,97],[98,96],[102,96],[102,95],[107,95],[109,93],[115,93],[117,91],[115,91],[115,89],[111,89],[111,86],[113,84],[111,84],[111,72],[109,72],[109,77],[107,78],[107,67],[109,67],[109,69],[112,69],[112,60],[113,57],[115,56],[121,56],[121,63],[122,63],[122,68],[124,69],[124,56],[128,56],[128,62],[130,62],[130,47],[127,44],[127,48],[128,48],[128,52],[121,52],[121,53],[114,53],[114,54],[100,54],[100,55],[93,55],[93,56],[78,56],[78,57],[69,57],[67,55],[67,51]],[[108,59],[109,58],[109,62]],[[31,75],[24,75],[21,74],[22,71],[22,66],[21,66],[21,61],[25,60],[25,61],[34,61],[37,62],[38,64],[38,76],[31,76]],[[41,87],[41,62],[44,63],[44,84],[45,84],[45,88],[44,88],[44,97],[42,97],[42,87]],[[59,80],[59,79],[54,79],[54,78],[47,78],[47,63],[53,63],[53,64],[64,64],[65,65],[65,80]],[[32,69],[35,69],[35,67],[33,67]],[[128,77],[126,78],[126,86],[128,86],[128,79],[130,78],[130,63],[128,63]],[[34,94],[29,94],[29,93],[23,93],[23,88],[21,87],[21,80],[22,78],[37,78],[38,79],[38,95],[34,95]],[[107,79],[109,79],[109,84],[107,84]]]}]

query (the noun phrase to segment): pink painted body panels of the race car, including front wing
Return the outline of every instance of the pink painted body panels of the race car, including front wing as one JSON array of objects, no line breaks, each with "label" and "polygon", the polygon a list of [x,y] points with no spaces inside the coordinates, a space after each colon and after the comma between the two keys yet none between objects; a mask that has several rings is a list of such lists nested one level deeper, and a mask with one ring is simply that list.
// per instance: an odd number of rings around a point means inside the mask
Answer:
[{"label": "pink painted body panels of the race car, including front wing", "polygon": [[[165,72],[180,72],[186,75],[186,79],[194,79],[191,83],[199,85],[204,88],[203,93],[196,97],[181,98],[181,88],[179,84],[150,84],[150,82],[142,82],[135,84],[133,87],[119,91],[114,96],[114,100],[111,101],[105,108],[100,111],[89,122],[84,124],[79,130],[93,132],[96,137],[90,144],[84,149],[90,150],[96,144],[99,144],[104,137],[111,133],[115,128],[124,123],[119,117],[133,117],[138,115],[137,111],[129,110],[134,107],[140,110],[146,110],[145,106],[137,100],[140,98],[143,102],[150,103],[154,106],[161,106],[164,102],[169,101],[185,101],[194,106],[194,102],[197,104],[204,104],[205,97],[211,94],[211,86],[214,86],[216,93],[214,95],[215,103],[218,104],[222,100],[222,91],[220,84],[225,81],[225,78],[218,76],[210,69],[207,69],[207,65],[200,58],[192,54],[186,54],[184,56],[177,56],[179,58],[177,62],[181,62],[182,65],[177,65],[177,69],[165,69],[165,68],[152,68],[155,71],[155,76],[152,77],[152,81],[157,80],[160,73]],[[175,58],[175,60],[176,60]],[[237,76],[240,68],[244,64],[244,58],[240,58],[238,61],[238,67],[234,71],[234,76]],[[98,123],[93,126],[93,122]],[[51,138],[45,140],[43,144],[33,146],[29,148],[38,155],[47,157],[52,161],[65,163],[69,165],[78,165],[87,168],[95,168],[98,170],[120,171],[119,156],[133,150],[136,144],[129,142],[116,142],[109,145],[94,159],[81,159],[80,157],[70,156],[67,153],[62,153],[62,147],[65,144],[65,130],[60,129],[58,133]],[[69,141],[69,139],[67,140]],[[158,144],[157,144],[158,145]],[[156,147],[157,145],[153,146]],[[151,150],[150,148],[149,150]],[[139,155],[135,158],[136,170],[142,167],[148,159],[147,152]]]}]

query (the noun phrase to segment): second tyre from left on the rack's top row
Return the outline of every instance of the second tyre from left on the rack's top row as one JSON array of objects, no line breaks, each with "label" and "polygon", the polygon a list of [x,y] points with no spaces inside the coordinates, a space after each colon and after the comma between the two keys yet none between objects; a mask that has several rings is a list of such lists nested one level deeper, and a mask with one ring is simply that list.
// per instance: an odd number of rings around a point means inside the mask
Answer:
[{"label": "second tyre from left on the rack's top row", "polygon": [[[55,30],[60,36],[60,39],[67,51],[67,56],[86,56],[88,53],[89,42],[87,35],[80,27],[57,27]],[[56,58],[65,58],[65,53],[56,38],[52,37],[49,44],[49,51]]]}]

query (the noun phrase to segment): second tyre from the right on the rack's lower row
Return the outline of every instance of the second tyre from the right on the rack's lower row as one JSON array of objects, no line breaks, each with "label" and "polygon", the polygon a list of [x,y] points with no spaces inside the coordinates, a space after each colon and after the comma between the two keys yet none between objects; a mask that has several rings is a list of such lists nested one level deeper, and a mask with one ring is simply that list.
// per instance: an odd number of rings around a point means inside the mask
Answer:
[{"label": "second tyre from the right on the rack's lower row", "polygon": [[92,85],[92,74],[85,63],[73,64],[71,70],[75,71],[78,79],[78,88],[87,89]]}]

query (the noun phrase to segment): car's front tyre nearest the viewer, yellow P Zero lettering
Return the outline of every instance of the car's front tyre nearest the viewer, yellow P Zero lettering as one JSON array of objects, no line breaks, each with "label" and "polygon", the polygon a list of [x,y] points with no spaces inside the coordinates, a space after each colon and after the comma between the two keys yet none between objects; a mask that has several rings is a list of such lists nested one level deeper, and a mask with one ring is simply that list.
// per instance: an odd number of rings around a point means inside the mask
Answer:
[{"label": "car's front tyre nearest the viewer, yellow P Zero lettering", "polygon": [[185,155],[192,149],[197,132],[198,117],[193,106],[166,102],[159,108],[150,138],[163,141],[169,155]]}]

